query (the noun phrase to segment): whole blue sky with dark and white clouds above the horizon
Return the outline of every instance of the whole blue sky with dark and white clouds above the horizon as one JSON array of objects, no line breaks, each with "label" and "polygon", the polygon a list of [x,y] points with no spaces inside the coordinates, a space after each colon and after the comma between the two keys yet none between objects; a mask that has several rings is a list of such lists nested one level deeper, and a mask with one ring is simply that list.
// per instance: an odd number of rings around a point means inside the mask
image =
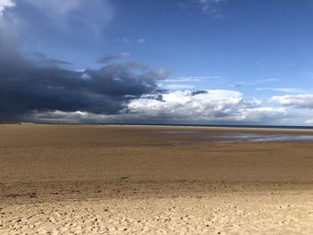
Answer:
[{"label": "whole blue sky with dark and white clouds above the horizon", "polygon": [[311,0],[0,0],[0,120],[313,125]]}]

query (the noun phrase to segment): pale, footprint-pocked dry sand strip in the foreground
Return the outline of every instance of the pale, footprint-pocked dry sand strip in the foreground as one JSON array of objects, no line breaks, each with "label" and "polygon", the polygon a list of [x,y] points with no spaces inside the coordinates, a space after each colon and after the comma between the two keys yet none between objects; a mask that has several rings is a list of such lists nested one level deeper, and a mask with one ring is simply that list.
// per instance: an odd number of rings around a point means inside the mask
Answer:
[{"label": "pale, footprint-pocked dry sand strip in the foreground", "polygon": [[226,193],[5,206],[1,234],[312,234],[313,195]]}]

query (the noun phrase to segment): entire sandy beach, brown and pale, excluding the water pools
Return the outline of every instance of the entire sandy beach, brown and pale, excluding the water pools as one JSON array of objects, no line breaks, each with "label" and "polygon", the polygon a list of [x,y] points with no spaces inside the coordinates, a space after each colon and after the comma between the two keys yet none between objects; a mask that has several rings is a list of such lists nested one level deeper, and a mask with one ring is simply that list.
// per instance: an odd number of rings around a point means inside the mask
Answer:
[{"label": "entire sandy beach, brown and pale, excluding the water pools", "polygon": [[0,125],[0,234],[313,233],[312,142],[238,130]]}]

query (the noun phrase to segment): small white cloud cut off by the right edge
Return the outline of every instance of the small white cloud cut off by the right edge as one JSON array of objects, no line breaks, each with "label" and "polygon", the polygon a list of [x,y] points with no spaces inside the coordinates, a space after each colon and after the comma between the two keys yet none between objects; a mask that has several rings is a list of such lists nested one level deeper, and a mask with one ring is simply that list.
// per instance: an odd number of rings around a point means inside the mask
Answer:
[{"label": "small white cloud cut off by the right edge", "polygon": [[274,96],[271,97],[269,102],[295,108],[313,109],[313,94]]}]

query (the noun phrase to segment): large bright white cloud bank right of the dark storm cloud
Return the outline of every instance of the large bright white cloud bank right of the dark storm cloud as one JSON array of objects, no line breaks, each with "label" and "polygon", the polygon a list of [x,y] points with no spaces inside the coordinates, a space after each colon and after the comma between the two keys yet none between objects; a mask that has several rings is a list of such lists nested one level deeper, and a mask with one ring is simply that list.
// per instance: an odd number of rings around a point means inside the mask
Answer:
[{"label": "large bright white cloud bank right of the dark storm cloud", "polygon": [[148,120],[196,122],[263,122],[285,114],[283,107],[262,107],[245,101],[233,90],[206,90],[201,92],[173,91],[162,99],[141,97],[132,100],[128,110]]}]

